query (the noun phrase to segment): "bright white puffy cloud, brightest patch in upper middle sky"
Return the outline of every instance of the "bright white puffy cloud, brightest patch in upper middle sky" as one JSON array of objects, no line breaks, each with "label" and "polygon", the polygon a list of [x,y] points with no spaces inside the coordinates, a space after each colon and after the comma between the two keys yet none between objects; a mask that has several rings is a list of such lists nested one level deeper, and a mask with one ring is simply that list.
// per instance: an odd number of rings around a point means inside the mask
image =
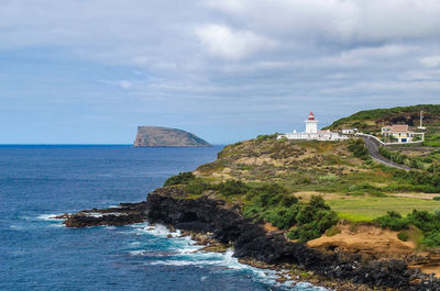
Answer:
[{"label": "bright white puffy cloud, brightest patch in upper middle sky", "polygon": [[226,25],[204,25],[196,30],[196,34],[209,54],[224,59],[242,59],[276,47],[273,40],[250,31],[233,31]]}]

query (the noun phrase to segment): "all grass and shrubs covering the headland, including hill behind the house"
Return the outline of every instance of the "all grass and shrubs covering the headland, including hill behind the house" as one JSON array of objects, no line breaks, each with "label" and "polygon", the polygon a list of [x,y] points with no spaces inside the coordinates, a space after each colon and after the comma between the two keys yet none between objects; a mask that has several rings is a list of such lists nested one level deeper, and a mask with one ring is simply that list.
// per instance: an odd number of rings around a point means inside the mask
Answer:
[{"label": "all grass and shrubs covering the headland, including hill behind the house", "polygon": [[[383,124],[378,120],[416,122],[418,110],[431,114],[427,114],[431,122],[427,142],[440,141],[436,135],[440,116],[438,125],[432,123],[440,105],[430,111],[424,107],[365,111],[336,124],[374,133]],[[341,230],[336,223],[346,220],[353,227],[356,222],[375,222],[418,246],[440,246],[440,210],[436,210],[440,209],[440,195],[430,200],[420,193],[440,193],[439,149],[418,150],[420,145],[380,148],[382,155],[414,169],[405,171],[372,160],[362,139],[287,141],[276,136],[261,135],[226,146],[216,161],[197,169],[197,177],[179,174],[165,186],[183,184],[187,199],[205,194],[238,203],[246,217],[270,222],[299,242],[323,233],[337,235]]]}]

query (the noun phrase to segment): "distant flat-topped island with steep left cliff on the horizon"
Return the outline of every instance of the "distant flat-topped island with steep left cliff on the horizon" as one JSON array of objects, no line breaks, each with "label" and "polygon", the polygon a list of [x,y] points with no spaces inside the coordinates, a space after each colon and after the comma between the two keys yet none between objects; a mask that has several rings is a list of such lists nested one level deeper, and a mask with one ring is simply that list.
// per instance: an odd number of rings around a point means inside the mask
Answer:
[{"label": "distant flat-topped island with steep left cliff on the horizon", "polygon": [[134,146],[206,147],[211,145],[197,135],[182,130],[162,126],[138,126]]}]

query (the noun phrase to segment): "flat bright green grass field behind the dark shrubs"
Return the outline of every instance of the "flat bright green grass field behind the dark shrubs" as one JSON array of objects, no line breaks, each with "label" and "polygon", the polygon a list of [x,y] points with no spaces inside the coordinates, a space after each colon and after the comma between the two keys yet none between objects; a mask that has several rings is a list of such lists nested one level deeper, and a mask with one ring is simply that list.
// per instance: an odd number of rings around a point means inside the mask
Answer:
[{"label": "flat bright green grass field behind the dark shrubs", "polygon": [[396,211],[406,215],[414,209],[427,211],[440,209],[440,201],[403,197],[338,199],[327,200],[327,203],[338,213],[339,217],[352,222],[373,221],[385,215],[387,211]]}]

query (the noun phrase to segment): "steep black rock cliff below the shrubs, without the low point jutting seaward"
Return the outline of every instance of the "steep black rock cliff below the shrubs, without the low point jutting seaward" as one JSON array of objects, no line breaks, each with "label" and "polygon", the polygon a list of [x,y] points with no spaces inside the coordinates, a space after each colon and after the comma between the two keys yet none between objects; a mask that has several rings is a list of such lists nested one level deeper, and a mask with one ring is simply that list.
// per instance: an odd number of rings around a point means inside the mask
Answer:
[{"label": "steep black rock cliff below the shrubs, without the low point jutting seaward", "polygon": [[239,210],[222,201],[206,197],[195,200],[173,197],[158,189],[147,197],[147,212],[151,222],[212,233],[212,237],[219,242],[232,244],[238,258],[267,264],[294,264],[330,278],[372,287],[440,290],[438,280],[409,269],[404,260],[362,260],[359,255],[319,251],[286,239],[280,232],[267,233],[262,222],[244,219]]}]

